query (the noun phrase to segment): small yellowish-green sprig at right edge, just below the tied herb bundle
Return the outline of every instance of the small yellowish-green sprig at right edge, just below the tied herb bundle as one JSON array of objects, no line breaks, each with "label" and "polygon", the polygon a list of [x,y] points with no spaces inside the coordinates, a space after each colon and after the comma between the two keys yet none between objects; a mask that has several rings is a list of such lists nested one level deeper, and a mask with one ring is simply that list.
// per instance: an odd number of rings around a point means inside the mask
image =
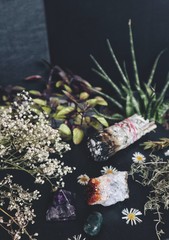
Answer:
[{"label": "small yellowish-green sprig at right edge, just below the tied herb bundle", "polygon": [[169,147],[169,138],[160,138],[158,141],[148,141],[141,145],[144,149],[160,150]]}]

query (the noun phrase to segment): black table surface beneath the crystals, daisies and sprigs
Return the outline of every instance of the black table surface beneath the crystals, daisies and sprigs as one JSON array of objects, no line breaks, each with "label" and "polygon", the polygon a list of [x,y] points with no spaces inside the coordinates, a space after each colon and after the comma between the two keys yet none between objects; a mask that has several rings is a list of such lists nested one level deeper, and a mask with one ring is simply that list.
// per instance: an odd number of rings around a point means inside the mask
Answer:
[{"label": "black table surface beneath the crystals, daisies and sprigs", "polygon": [[[86,142],[79,146],[72,146],[72,150],[65,154],[64,161],[67,165],[75,166],[76,171],[65,177],[65,189],[76,193],[76,220],[65,222],[46,222],[45,214],[50,204],[52,193],[49,186],[38,186],[37,189],[41,191],[42,197],[34,205],[36,212],[36,223],[30,227],[30,231],[39,233],[39,240],[67,240],[73,235],[82,234],[86,239],[93,240],[156,240],[154,214],[148,212],[146,216],[141,216],[142,223],[136,226],[126,224],[122,220],[121,211],[124,208],[136,208],[143,212],[144,204],[148,194],[148,189],[145,189],[137,182],[133,181],[131,177],[128,179],[129,184],[129,199],[118,202],[109,207],[101,205],[88,206],[85,200],[85,187],[77,183],[77,177],[80,174],[86,173],[89,177],[98,177],[103,166],[112,165],[119,171],[129,171],[132,163],[132,155],[135,152],[143,153],[147,158],[149,151],[144,151],[140,143],[147,140],[157,140],[160,137],[169,137],[169,131],[166,131],[162,126],[158,126],[155,132],[151,132],[142,137],[125,150],[121,150],[111,157],[106,162],[94,162],[91,158]],[[159,151],[158,154],[163,156],[164,151]],[[33,180],[30,176],[25,174],[16,174],[15,180],[22,183],[24,186],[32,187]],[[36,187],[34,185],[34,187]],[[103,225],[100,233],[95,237],[87,236],[83,231],[83,224],[87,216],[93,211],[99,211],[103,215]],[[164,212],[165,225],[164,230],[166,235],[162,239],[169,237],[169,212]],[[10,237],[0,231],[0,240],[8,240]],[[23,239],[26,239],[23,238]],[[83,238],[82,238],[83,239]]]}]

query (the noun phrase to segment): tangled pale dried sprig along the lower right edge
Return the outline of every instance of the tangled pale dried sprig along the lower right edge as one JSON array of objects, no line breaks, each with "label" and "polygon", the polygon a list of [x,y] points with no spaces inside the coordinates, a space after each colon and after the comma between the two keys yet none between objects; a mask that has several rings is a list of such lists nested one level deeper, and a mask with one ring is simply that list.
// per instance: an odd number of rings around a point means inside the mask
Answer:
[{"label": "tangled pale dried sprig along the lower right edge", "polygon": [[157,215],[157,218],[154,219],[155,231],[160,240],[164,233],[161,228],[161,224],[164,223],[162,211],[169,209],[169,161],[164,161],[163,158],[151,154],[149,161],[142,164],[133,163],[130,174],[133,178],[138,174],[141,180],[137,182],[151,189],[144,205],[144,213],[151,210]]}]

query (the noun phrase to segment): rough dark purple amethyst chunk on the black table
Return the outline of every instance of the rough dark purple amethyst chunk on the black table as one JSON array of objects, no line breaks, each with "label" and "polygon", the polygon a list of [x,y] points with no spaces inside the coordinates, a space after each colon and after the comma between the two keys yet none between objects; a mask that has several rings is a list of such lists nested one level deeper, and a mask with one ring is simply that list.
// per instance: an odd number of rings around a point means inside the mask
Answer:
[{"label": "rough dark purple amethyst chunk on the black table", "polygon": [[66,221],[75,219],[74,199],[75,194],[59,189],[54,195],[52,206],[46,212],[46,220]]}]

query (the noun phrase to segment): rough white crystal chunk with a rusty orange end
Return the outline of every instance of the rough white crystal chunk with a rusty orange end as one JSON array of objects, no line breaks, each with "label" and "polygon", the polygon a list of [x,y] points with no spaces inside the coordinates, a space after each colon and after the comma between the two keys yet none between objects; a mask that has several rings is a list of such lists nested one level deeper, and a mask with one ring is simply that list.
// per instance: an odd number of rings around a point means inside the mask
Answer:
[{"label": "rough white crystal chunk with a rusty orange end", "polygon": [[87,186],[88,204],[110,206],[129,198],[127,178],[127,172],[114,172],[91,178]]}]

